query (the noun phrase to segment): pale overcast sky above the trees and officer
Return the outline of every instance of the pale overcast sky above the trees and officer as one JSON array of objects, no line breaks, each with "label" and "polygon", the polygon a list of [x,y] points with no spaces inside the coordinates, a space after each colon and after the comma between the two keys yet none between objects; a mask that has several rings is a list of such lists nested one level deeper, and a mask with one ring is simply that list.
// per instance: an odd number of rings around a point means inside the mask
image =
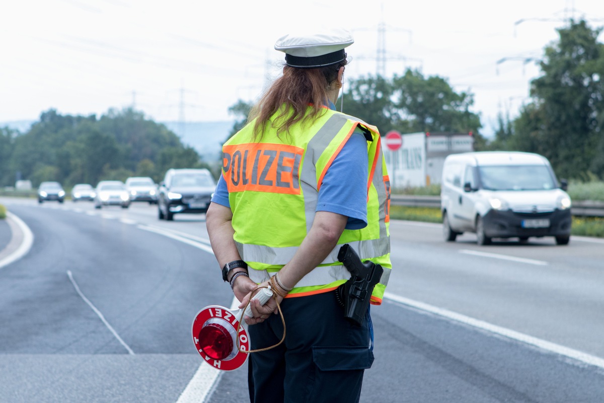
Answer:
[{"label": "pale overcast sky above the trees and officer", "polygon": [[533,60],[565,19],[604,25],[601,0],[19,0],[0,10],[0,122],[132,105],[158,121],[232,120],[228,108],[279,73],[275,40],[312,23],[352,31],[352,78],[376,74],[385,27],[386,75],[417,68],[472,92],[486,135],[498,112],[513,118],[527,102]]}]

